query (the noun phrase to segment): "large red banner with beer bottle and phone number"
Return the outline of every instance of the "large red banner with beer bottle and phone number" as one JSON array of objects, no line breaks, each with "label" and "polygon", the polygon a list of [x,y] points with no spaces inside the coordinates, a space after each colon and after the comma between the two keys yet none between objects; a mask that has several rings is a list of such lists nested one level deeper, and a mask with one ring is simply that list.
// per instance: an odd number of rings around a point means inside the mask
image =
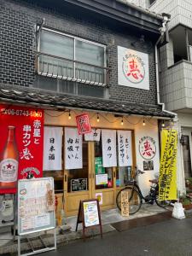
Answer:
[{"label": "large red banner with beer bottle and phone number", "polygon": [[0,105],[0,193],[15,193],[17,179],[43,175],[44,110]]}]

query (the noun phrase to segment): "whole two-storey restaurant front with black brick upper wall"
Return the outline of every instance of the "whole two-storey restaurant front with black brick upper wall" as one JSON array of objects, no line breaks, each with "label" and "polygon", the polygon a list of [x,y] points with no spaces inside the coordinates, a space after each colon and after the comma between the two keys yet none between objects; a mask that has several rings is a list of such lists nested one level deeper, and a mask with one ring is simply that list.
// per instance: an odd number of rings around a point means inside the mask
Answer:
[{"label": "whole two-storey restaurant front with black brick upper wall", "polygon": [[[11,23],[3,26],[9,37],[3,37],[0,103],[10,116],[12,106],[44,111],[41,171],[55,179],[57,217],[63,207],[76,215],[79,201],[95,197],[102,210],[116,207],[135,166],[145,172],[138,182],[147,194],[160,166],[158,120],[174,117],[157,101],[154,45],[163,18],[115,0],[88,2],[0,5],[3,22]],[[94,138],[78,135],[82,113]]]}]

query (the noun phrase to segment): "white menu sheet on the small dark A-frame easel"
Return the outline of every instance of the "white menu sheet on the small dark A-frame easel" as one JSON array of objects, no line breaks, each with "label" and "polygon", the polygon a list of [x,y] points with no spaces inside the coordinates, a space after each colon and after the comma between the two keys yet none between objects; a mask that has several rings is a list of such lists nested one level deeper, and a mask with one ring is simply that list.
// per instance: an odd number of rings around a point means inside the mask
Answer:
[{"label": "white menu sheet on the small dark A-frame easel", "polygon": [[85,228],[99,224],[97,201],[84,201],[84,226]]}]

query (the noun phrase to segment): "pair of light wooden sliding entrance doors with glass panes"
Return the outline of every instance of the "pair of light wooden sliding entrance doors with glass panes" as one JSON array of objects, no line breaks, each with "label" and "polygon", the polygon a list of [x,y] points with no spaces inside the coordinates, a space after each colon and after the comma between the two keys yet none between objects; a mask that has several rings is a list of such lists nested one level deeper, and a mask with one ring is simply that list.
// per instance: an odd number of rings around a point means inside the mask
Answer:
[{"label": "pair of light wooden sliding entrance doors with glass panes", "polygon": [[116,167],[102,167],[102,142],[83,142],[83,168],[64,172],[64,208],[78,214],[79,201],[98,198],[101,208],[115,207]]}]

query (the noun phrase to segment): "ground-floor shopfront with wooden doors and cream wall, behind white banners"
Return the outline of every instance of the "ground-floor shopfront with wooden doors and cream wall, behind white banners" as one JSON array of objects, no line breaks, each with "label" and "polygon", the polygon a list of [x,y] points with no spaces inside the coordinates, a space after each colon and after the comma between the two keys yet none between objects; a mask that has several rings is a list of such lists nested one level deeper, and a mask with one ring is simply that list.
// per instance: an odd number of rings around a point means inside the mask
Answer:
[{"label": "ground-floor shopfront with wooden doors and cream wall, behind white banners", "polygon": [[[95,141],[90,141],[89,137],[83,137],[83,168],[67,170],[65,169],[67,153],[64,146],[65,140],[68,139],[66,128],[72,127],[74,130],[77,130],[75,116],[81,112],[72,110],[70,113],[71,119],[68,119],[68,113],[63,113],[56,117],[59,113],[45,111],[44,120],[45,127],[48,127],[48,129],[62,128],[63,169],[61,171],[44,171],[44,175],[55,176],[56,186],[57,183],[63,186],[64,206],[67,216],[78,213],[80,200],[96,198],[96,196],[101,199],[102,210],[116,207],[116,195],[119,189],[124,187],[128,180],[131,180],[135,172],[135,166],[145,172],[142,177],[138,177],[138,180],[143,193],[147,194],[150,186],[149,179],[154,178],[154,174],[159,172],[160,167],[158,120],[145,119],[146,125],[143,125],[143,117],[125,117],[122,125],[122,120],[119,117],[114,117],[111,113],[99,114],[99,122],[97,122],[97,114],[88,112],[90,115],[90,125],[97,136]],[[110,167],[102,167],[102,143],[105,138],[103,138],[103,134],[106,131],[109,131],[109,138],[110,131],[114,132],[116,137],[116,164],[112,163],[113,166]],[[119,163],[120,144],[118,143],[118,135],[121,132],[125,132],[128,138],[130,148],[129,166],[122,166]],[[143,148],[146,142],[148,142],[148,146]],[[46,149],[44,148],[44,150]],[[64,172],[64,177],[61,175],[62,172]],[[82,183],[85,184],[82,185]]]}]

